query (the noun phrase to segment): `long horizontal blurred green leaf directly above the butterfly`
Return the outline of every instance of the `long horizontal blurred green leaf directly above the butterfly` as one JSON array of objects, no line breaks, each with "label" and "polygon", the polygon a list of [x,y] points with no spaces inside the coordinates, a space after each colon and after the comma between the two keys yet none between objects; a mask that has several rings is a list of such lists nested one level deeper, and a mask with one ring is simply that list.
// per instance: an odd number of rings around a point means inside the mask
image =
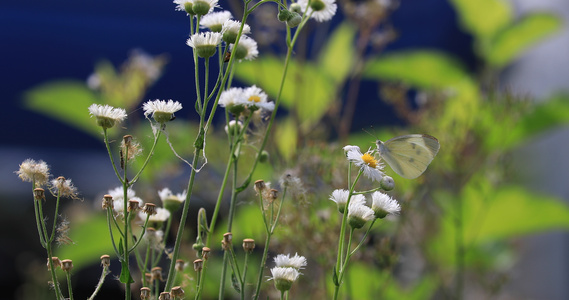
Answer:
[{"label": "long horizontal blurred green leaf directly above the butterfly", "polygon": [[363,75],[370,79],[402,81],[423,89],[474,86],[458,61],[436,51],[407,51],[384,55],[369,61]]}]

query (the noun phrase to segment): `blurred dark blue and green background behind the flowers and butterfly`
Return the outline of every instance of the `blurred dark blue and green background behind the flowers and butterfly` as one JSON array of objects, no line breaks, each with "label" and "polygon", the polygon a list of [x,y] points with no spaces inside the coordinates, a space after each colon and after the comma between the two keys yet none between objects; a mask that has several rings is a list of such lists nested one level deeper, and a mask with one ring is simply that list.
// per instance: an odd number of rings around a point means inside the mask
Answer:
[{"label": "blurred dark blue and green background behind the flowers and butterfly", "polygon": [[[316,215],[330,206],[328,194],[342,187],[341,164],[332,163],[343,159],[339,149],[348,143],[365,149],[375,140],[362,128],[383,140],[428,133],[442,145],[419,180],[394,176],[404,213],[397,225],[379,229],[360,257],[375,262],[373,269],[354,266],[354,274],[376,280],[368,284],[354,275],[366,287],[364,294],[354,291],[354,299],[379,298],[377,293],[385,299],[453,299],[457,290],[466,299],[569,298],[569,3],[338,4],[331,22],[310,23],[299,41],[277,120],[279,138],[259,176],[276,181],[293,170],[305,180],[308,213]],[[241,3],[220,5],[240,18]],[[172,136],[179,145],[191,144],[194,134],[188,132],[197,115],[192,51],[185,44],[189,23],[174,7],[170,1],[130,0],[0,4],[0,84],[7,105],[0,121],[0,299],[44,299],[44,277],[33,275],[44,271],[45,252],[33,224],[30,186],[14,174],[23,160],[44,160],[55,176],[73,179],[84,200],[66,205],[63,214],[72,223],[93,222],[88,211],[98,212],[101,196],[117,184],[99,128],[88,116],[91,103],[125,107],[129,120],[115,138],[134,131],[142,139],[151,133],[143,128],[141,102],[180,101],[185,109]],[[284,24],[267,4],[249,25],[260,57],[239,64],[236,81],[257,84],[274,99],[271,81],[278,80],[263,74],[279,71],[271,62],[284,53]],[[223,140],[223,130],[212,134]],[[191,149],[180,153],[190,155]],[[221,153],[211,155],[225,161]],[[221,167],[212,165],[203,176],[215,182]],[[150,199],[157,198],[156,189],[186,186],[188,170],[171,155],[157,157],[150,170],[138,191]],[[193,215],[214,200],[198,190]],[[292,242],[294,228],[285,230],[280,243],[296,243],[304,253],[316,247],[314,257],[326,257],[324,242],[303,245],[302,237],[326,240],[312,222],[335,219],[298,222],[310,229]],[[71,247],[80,247],[74,240]],[[101,251],[108,250],[108,237],[100,240]],[[79,264],[76,278],[97,274],[97,259]],[[309,261],[328,267],[325,259]],[[94,282],[84,284],[89,289]]]}]

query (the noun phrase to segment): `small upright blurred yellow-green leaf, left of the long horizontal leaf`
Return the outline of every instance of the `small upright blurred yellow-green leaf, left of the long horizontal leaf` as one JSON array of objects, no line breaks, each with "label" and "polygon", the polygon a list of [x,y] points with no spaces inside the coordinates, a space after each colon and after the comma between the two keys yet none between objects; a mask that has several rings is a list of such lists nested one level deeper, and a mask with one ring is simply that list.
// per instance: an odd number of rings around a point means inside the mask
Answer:
[{"label": "small upright blurred yellow-green leaf, left of the long horizontal leaf", "polygon": [[332,78],[335,84],[342,83],[353,68],[355,36],[355,28],[344,22],[334,30],[320,53],[320,69]]}]

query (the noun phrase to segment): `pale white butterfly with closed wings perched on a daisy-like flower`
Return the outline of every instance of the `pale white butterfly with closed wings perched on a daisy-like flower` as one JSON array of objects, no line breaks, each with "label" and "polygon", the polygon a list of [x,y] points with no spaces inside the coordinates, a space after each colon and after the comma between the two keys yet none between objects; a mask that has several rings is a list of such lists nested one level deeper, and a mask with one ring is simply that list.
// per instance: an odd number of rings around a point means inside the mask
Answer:
[{"label": "pale white butterfly with closed wings perched on a daisy-like flower", "polygon": [[391,169],[408,179],[423,174],[441,147],[436,138],[427,134],[402,135],[375,143],[379,155]]}]

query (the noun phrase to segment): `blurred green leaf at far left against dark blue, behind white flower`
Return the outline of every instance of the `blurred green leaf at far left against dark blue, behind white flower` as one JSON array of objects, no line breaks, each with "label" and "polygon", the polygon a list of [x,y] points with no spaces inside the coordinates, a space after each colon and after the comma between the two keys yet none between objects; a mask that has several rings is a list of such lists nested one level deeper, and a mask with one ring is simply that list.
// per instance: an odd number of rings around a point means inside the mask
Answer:
[{"label": "blurred green leaf at far left against dark blue, behind white flower", "polygon": [[101,129],[89,118],[87,110],[97,102],[95,94],[83,82],[71,80],[43,84],[24,94],[27,108],[100,137]]}]

